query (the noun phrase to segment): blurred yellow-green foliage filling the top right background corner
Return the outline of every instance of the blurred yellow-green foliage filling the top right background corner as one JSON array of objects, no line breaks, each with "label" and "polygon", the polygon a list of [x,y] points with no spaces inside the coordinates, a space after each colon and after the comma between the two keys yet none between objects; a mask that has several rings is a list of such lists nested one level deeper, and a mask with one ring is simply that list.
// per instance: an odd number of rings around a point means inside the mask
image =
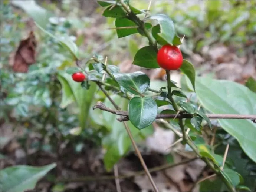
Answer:
[{"label": "blurred yellow-green foliage filling the top right background corner", "polygon": [[[143,3],[136,4],[145,7]],[[186,9],[178,9],[183,6]],[[200,53],[203,46],[219,42],[241,47],[239,45],[255,40],[255,6],[255,1],[236,0],[191,2],[190,5],[184,1],[174,1],[171,5],[158,1],[151,12],[164,12],[173,18],[177,33],[187,37],[181,50],[189,55],[191,50]]]}]

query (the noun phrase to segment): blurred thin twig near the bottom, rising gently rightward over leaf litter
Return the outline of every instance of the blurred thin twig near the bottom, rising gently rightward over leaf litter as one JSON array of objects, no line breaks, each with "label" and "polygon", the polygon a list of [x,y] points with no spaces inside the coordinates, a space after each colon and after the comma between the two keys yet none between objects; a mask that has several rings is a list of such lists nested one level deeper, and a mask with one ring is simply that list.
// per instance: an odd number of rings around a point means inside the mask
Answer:
[{"label": "blurred thin twig near the bottom, rising gently rightward over leaf litter", "polygon": [[[149,172],[156,172],[156,171],[162,171],[165,169],[170,169],[179,165],[183,165],[183,164],[187,164],[189,162],[192,162],[194,160],[196,160],[198,158],[193,158],[193,159],[188,159],[186,161],[181,161],[178,162],[177,164],[164,164],[161,166],[157,166],[154,168],[150,168],[148,169]],[[140,176],[140,175],[144,175],[145,171],[137,171],[128,175],[119,175],[118,177],[116,176],[109,176],[109,175],[105,175],[105,176],[98,176],[98,177],[93,177],[93,176],[83,176],[83,177],[79,177],[79,178],[75,178],[75,179],[60,179],[58,182],[74,182],[74,181],[95,181],[95,180],[111,180],[111,179],[125,179],[125,178],[131,178],[134,176]]]}]

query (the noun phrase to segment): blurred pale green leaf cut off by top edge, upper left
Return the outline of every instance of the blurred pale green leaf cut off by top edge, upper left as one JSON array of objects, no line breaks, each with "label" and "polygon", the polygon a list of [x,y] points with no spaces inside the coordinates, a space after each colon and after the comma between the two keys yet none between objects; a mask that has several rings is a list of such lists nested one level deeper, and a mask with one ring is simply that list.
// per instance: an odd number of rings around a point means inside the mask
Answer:
[{"label": "blurred pale green leaf cut off by top edge, upper left", "polygon": [[33,20],[38,23],[42,28],[46,28],[47,23],[49,23],[49,18],[53,15],[43,7],[36,4],[36,1],[10,1],[14,6],[23,9]]}]

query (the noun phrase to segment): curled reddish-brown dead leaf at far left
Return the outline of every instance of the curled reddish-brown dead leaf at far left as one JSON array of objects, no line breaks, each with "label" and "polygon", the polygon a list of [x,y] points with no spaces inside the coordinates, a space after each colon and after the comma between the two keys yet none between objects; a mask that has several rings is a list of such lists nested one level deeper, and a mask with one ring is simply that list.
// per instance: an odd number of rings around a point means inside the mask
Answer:
[{"label": "curled reddish-brown dead leaf at far left", "polygon": [[29,65],[36,62],[36,46],[36,38],[31,31],[29,37],[21,40],[17,50],[10,55],[9,64],[14,72],[27,73]]}]

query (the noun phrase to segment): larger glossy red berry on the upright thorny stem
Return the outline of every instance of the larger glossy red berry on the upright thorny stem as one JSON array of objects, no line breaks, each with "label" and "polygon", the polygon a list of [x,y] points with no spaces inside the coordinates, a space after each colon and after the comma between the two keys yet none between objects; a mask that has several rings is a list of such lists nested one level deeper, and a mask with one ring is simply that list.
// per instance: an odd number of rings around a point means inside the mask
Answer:
[{"label": "larger glossy red berry on the upright thorny stem", "polygon": [[157,63],[165,70],[177,70],[181,67],[183,57],[176,46],[164,45],[157,53]]}]

